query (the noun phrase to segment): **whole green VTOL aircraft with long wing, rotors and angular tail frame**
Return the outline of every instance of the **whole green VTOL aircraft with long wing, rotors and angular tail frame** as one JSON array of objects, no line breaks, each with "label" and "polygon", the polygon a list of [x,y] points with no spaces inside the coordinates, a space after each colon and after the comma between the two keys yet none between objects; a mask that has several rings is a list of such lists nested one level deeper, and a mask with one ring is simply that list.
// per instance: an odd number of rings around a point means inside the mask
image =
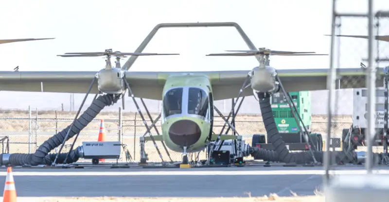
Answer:
[{"label": "whole green VTOL aircraft with long wing, rotors and angular tail frame", "polygon": [[[255,56],[259,61],[258,67],[234,71],[129,71],[138,56],[159,55],[157,53],[141,53],[159,28],[222,26],[235,27],[250,50],[209,54],[208,56]],[[121,67],[120,58],[124,55],[131,55],[131,57]],[[0,90],[57,93],[87,92],[87,94],[106,93],[118,96],[123,96],[128,90],[132,99],[136,97],[162,100],[162,135],[153,135],[152,140],[163,141],[169,149],[182,152],[185,160],[187,152],[201,151],[209,141],[219,138],[223,140],[234,138],[233,135],[218,137],[218,135],[212,134],[214,101],[251,96],[254,92],[272,94],[280,90],[280,81],[282,81],[286,92],[328,89],[327,76],[329,69],[276,70],[269,64],[269,55],[315,54],[314,52],[257,49],[241,27],[234,22],[163,23],[158,24],[133,53],[106,50],[104,52],[73,52],[59,55],[62,57],[106,56],[106,67],[98,72],[0,71]],[[116,57],[115,67],[111,66],[111,56]],[[339,69],[337,75],[341,82],[340,86],[336,86],[336,88],[366,87],[365,74],[361,68]],[[97,83],[94,82],[95,79],[97,79]],[[383,82],[377,79],[377,84],[383,84]]]}]

